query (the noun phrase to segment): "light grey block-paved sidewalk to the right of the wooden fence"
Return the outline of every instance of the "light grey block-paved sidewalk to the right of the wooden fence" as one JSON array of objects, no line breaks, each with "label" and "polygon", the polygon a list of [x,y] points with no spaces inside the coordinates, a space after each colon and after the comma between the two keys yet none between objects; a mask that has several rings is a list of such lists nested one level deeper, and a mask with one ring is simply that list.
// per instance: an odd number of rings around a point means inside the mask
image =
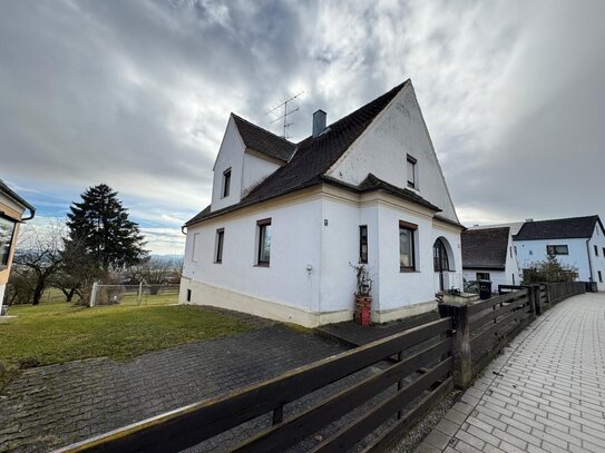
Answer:
[{"label": "light grey block-paved sidewalk to the right of the wooden fence", "polygon": [[423,452],[605,452],[605,294],[562,302],[519,334]]}]

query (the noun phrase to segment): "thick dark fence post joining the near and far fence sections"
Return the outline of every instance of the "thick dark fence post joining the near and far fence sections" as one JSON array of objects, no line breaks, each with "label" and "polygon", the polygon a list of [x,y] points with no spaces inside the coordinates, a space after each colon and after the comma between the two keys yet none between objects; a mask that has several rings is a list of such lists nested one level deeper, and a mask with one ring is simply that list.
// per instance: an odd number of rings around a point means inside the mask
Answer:
[{"label": "thick dark fence post joining the near and far fence sections", "polygon": [[453,318],[453,385],[467,388],[472,381],[468,305],[453,302],[439,304],[439,315]]}]

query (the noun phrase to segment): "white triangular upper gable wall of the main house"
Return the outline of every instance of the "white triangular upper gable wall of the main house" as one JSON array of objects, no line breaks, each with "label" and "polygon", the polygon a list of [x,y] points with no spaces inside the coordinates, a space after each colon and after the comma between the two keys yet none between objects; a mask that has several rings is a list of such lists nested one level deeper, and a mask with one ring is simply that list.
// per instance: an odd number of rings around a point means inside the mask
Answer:
[{"label": "white triangular upper gable wall of the main house", "polygon": [[406,188],[408,154],[417,159],[418,194],[441,208],[443,217],[458,221],[411,86],[396,96],[328,175],[358,185],[373,173]]}]

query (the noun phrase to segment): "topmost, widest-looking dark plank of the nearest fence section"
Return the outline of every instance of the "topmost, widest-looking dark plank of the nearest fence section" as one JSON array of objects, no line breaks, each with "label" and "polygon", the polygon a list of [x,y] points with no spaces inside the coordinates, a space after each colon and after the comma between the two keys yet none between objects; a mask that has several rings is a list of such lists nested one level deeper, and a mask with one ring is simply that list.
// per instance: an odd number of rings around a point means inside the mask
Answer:
[{"label": "topmost, widest-looking dark plank of the nearest fence section", "polygon": [[262,383],[76,443],[59,452],[178,452],[451,328],[451,318],[437,319]]}]

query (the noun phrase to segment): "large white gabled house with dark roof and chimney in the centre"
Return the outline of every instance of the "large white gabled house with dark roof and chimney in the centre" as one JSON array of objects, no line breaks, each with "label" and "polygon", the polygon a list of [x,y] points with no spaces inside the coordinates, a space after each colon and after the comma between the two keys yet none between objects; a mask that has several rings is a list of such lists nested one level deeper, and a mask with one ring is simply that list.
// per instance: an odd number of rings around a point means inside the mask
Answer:
[{"label": "large white gabled house with dark roof and chimney in the centre", "polygon": [[460,288],[460,225],[410,80],[294,144],[231,115],[212,204],[186,223],[180,303],[304,326],[352,319],[355,269],[372,321]]}]

